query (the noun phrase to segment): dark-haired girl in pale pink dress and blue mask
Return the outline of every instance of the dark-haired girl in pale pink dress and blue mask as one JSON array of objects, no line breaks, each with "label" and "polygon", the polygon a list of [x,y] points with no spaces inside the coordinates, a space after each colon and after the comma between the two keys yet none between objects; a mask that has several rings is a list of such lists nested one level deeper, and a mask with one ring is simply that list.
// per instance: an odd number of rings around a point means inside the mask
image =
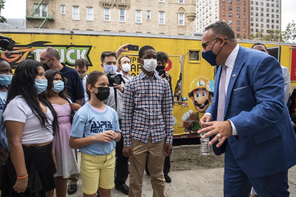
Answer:
[{"label": "dark-haired girl in pale pink dress and blue mask", "polygon": [[[48,70],[45,72],[47,79],[46,95],[57,112],[59,122],[59,133],[56,133],[52,146],[57,161],[57,173],[54,174],[56,183],[56,196],[65,197],[67,192],[67,177],[79,173],[76,163],[75,151],[69,145],[71,124],[70,116],[72,101],[65,89],[65,78],[61,72]],[[76,104],[76,103],[75,103]],[[78,104],[76,104],[78,105]],[[80,105],[78,105],[81,107]],[[78,110],[74,109],[75,111]],[[48,197],[54,195],[54,190],[47,193]]]}]

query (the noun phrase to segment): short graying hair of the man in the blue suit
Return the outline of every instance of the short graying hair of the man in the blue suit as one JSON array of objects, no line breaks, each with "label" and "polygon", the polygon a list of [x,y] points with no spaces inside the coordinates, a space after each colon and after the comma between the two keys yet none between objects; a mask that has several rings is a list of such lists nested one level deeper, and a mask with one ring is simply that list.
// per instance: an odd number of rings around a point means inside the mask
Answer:
[{"label": "short graying hair of the man in the blue suit", "polygon": [[223,37],[224,39],[234,39],[234,31],[231,29],[231,27],[223,21],[217,21],[209,26],[207,26],[204,30],[212,30],[213,34],[216,38]]}]

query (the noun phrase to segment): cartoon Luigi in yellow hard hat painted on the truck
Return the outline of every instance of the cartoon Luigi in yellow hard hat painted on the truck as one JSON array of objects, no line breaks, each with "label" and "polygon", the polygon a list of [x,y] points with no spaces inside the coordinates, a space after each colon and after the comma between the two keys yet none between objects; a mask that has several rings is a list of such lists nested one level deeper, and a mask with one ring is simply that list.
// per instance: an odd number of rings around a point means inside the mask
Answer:
[{"label": "cartoon Luigi in yellow hard hat painted on the truck", "polygon": [[194,113],[194,111],[190,109],[182,116],[183,127],[186,133],[197,133],[197,131],[201,129],[198,122],[212,101],[213,92],[214,81],[204,76],[198,76],[191,82],[188,96],[197,112]]}]

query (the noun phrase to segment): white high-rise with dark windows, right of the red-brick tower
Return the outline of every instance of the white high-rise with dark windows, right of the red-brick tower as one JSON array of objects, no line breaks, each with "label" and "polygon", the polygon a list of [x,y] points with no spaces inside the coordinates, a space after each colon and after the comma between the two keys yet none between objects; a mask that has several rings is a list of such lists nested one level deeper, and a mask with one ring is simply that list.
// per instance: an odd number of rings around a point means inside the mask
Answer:
[{"label": "white high-rise with dark windows, right of the red-brick tower", "polygon": [[281,30],[281,0],[250,1],[250,34]]}]

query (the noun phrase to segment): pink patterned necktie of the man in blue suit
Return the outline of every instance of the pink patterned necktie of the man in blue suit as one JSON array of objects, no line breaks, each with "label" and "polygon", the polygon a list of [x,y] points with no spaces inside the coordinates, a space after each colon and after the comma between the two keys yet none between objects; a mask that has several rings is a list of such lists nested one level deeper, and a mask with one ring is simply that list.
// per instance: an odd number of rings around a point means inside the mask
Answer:
[{"label": "pink patterned necktie of the man in blue suit", "polygon": [[[224,121],[225,98],[226,98],[225,84],[226,84],[226,65],[223,65],[222,73],[220,76],[220,85],[219,85],[217,121]],[[219,139],[219,141],[220,140],[221,139]]]}]

